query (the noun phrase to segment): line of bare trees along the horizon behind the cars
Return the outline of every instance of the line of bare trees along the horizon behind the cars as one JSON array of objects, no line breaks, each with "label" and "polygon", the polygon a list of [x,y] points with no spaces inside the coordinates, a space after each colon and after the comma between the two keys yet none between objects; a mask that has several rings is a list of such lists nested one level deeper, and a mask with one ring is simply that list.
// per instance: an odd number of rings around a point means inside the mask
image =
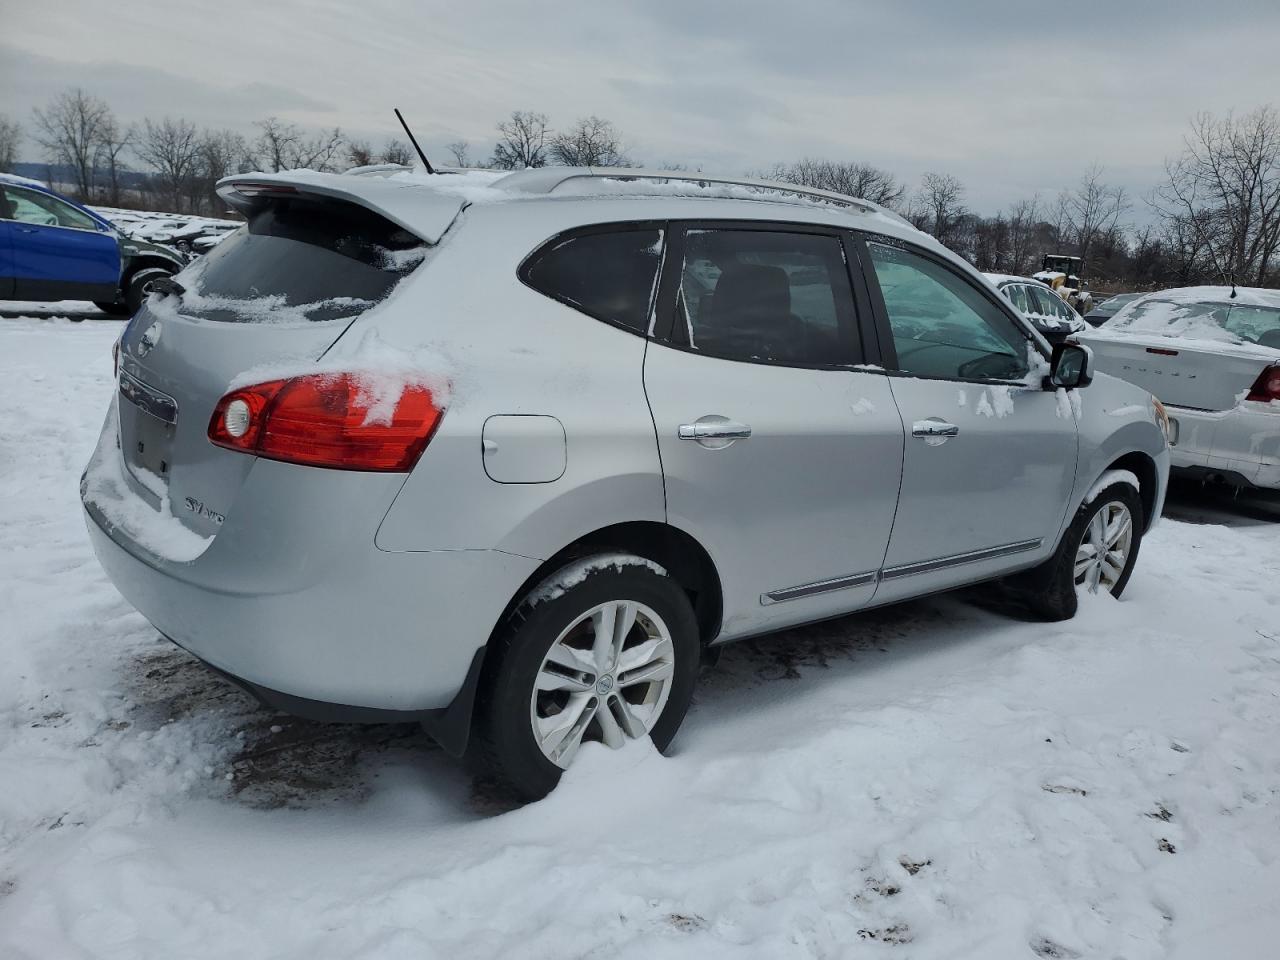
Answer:
[{"label": "line of bare trees along the horizon behind the cars", "polygon": [[[1189,283],[1280,285],[1280,114],[1271,105],[1245,114],[1201,114],[1165,177],[1140,202],[1153,223],[1126,221],[1134,200],[1091,165],[1056,197],[1034,196],[983,216],[965,204],[956,177],[925,173],[914,187],[870,164],[805,157],[756,175],[881,204],[905,216],[983,270],[1028,274],[1046,252],[1080,256],[1094,285],[1155,287]],[[269,116],[246,137],[197,128],[182,118],[123,125],[101,99],[68,90],[32,110],[27,129],[0,115],[0,170],[17,161],[29,137],[46,159],[72,172],[81,200],[173,212],[221,214],[214,184],[247,170],[344,170],[378,163],[410,164],[408,145],[380,147],[338,128],[307,132]],[[495,125],[490,150],[466,141],[447,147],[460,168],[516,170],[547,165],[639,166],[617,127],[582,116],[556,127],[545,113],[515,110]],[[124,175],[138,173],[127,188]],[[689,169],[663,163],[666,169]]]}]

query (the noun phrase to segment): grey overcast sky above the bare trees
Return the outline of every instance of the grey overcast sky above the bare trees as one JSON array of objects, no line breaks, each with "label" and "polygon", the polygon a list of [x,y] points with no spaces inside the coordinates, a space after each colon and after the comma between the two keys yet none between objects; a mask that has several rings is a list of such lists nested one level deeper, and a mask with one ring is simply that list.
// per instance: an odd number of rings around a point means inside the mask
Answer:
[{"label": "grey overcast sky above the bare trees", "polygon": [[1094,160],[1140,196],[1197,111],[1280,104],[1277,0],[0,0],[0,113],[22,122],[78,84],[124,120],[275,114],[378,142],[399,106],[444,159],[458,138],[486,155],[513,109],[598,114],[646,165],[938,170],[982,212]]}]

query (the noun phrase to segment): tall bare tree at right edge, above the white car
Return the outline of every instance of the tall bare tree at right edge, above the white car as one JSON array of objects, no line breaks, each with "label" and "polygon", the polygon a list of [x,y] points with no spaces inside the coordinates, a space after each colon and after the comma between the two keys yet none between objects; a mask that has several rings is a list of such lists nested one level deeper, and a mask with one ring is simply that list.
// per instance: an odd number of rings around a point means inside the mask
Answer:
[{"label": "tall bare tree at right edge, above the white car", "polygon": [[1225,279],[1262,287],[1280,252],[1280,115],[1199,114],[1181,156],[1166,161],[1156,209],[1189,232]]}]

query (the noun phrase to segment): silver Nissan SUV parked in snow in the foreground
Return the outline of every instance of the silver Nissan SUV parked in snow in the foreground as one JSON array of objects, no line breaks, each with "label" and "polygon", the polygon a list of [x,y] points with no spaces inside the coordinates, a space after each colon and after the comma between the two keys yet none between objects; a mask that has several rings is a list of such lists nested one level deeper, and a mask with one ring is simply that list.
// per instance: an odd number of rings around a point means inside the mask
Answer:
[{"label": "silver Nissan SUV parked in snow in the foreground", "polygon": [[1160,404],[872,204],[570,168],[220,193],[247,225],[118,344],[99,559],[266,703],[421,721],[526,796],[584,741],[666,748],[718,644],[979,581],[1070,617],[1160,513]]}]

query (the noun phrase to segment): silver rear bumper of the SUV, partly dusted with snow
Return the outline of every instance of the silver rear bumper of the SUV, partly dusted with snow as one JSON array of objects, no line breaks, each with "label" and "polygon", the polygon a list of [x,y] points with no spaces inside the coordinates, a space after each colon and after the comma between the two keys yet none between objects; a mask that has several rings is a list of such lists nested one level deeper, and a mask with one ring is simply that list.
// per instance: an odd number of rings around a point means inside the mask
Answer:
[{"label": "silver rear bumper of the SUV, partly dusted with snow", "polygon": [[[323,576],[282,582],[276,568],[310,562],[287,540],[264,554],[251,549],[260,544],[227,543],[227,530],[197,559],[172,564],[93,507],[86,522],[106,575],[156,630],[260,699],[326,719],[413,719],[448,707],[538,566],[498,550],[388,553],[374,547],[371,526],[364,547],[325,557]],[[246,586],[255,567],[270,591]]]}]

